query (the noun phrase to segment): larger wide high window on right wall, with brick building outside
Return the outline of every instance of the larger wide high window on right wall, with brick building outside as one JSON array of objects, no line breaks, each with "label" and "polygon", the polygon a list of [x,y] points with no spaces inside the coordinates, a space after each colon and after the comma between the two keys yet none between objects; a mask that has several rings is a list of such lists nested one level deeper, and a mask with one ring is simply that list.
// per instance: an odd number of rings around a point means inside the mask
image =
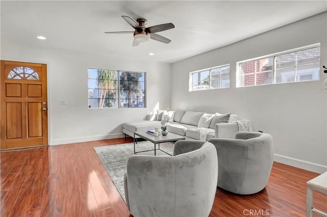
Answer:
[{"label": "larger wide high window on right wall, with brick building outside", "polygon": [[320,44],[238,63],[237,87],[319,80]]}]

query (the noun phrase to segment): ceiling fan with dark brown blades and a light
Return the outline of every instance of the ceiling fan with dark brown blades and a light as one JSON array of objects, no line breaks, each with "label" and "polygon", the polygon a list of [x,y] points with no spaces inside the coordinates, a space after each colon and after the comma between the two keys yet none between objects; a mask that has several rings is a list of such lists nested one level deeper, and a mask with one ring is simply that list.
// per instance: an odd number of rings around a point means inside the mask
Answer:
[{"label": "ceiling fan with dark brown blades and a light", "polygon": [[171,42],[171,40],[169,40],[168,38],[165,38],[155,33],[175,28],[173,23],[170,22],[165,24],[153,25],[146,28],[145,27],[145,25],[147,24],[146,19],[139,18],[135,22],[132,18],[128,16],[122,16],[122,17],[123,19],[125,19],[126,22],[128,22],[128,24],[132,26],[132,28],[135,29],[135,31],[134,32],[105,32],[105,34],[134,33],[133,46],[137,46],[141,42],[147,42],[149,41],[149,38],[156,41],[164,42],[166,44]]}]

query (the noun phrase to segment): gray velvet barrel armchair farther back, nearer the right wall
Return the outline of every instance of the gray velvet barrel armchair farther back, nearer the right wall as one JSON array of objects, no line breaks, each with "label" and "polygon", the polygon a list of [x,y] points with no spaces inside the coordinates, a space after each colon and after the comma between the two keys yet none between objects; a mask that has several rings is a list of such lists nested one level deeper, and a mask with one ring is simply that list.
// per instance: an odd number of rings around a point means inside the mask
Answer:
[{"label": "gray velvet barrel armchair farther back, nearer the right wall", "polygon": [[273,141],[268,133],[237,132],[235,139],[210,139],[218,155],[217,186],[249,195],[267,185],[273,164]]}]

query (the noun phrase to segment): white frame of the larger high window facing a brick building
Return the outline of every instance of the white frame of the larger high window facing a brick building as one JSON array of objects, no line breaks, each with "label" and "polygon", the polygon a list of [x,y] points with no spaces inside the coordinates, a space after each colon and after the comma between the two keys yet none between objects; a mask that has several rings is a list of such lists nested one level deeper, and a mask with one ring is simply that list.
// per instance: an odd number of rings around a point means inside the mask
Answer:
[{"label": "white frame of the larger high window facing a brick building", "polygon": [[[294,64],[294,68],[295,68],[295,73],[294,73],[294,81],[292,82],[279,82],[279,83],[276,83],[276,71],[278,69],[276,69],[276,57],[277,56],[282,56],[282,55],[286,55],[288,53],[295,53],[295,52],[298,52],[298,51],[302,51],[302,50],[306,50],[306,49],[311,49],[311,48],[316,48],[316,47],[321,47],[320,46],[320,43],[315,43],[315,44],[311,44],[311,45],[306,45],[306,46],[302,46],[302,47],[297,47],[297,48],[293,48],[293,49],[289,49],[289,50],[284,50],[284,51],[281,51],[281,52],[276,52],[276,53],[272,53],[270,55],[265,55],[265,56],[261,56],[261,57],[256,57],[256,58],[252,58],[252,59],[248,59],[248,60],[242,60],[242,61],[239,61],[236,63],[236,71],[237,71],[237,76],[236,76],[236,88],[243,88],[243,87],[253,87],[253,86],[262,86],[262,85],[276,85],[276,84],[287,84],[287,83],[298,83],[298,82],[313,82],[313,81],[317,81],[317,80],[320,80],[320,73],[318,73],[318,78],[317,79],[312,79],[312,80],[295,80],[295,78],[297,79],[297,76],[299,74],[297,74],[296,72],[298,71],[297,68],[300,67],[300,66],[307,66],[307,65],[313,65],[313,64],[305,64],[305,65],[297,65],[296,63],[296,58],[295,58],[295,64]],[[321,56],[321,49],[320,49],[320,55],[319,55],[319,58]],[[254,78],[254,85],[244,85],[244,86],[241,86],[241,82],[242,82],[242,72],[241,72],[241,64],[242,63],[248,63],[248,62],[253,62],[253,61],[258,61],[258,60],[262,60],[262,59],[267,59],[267,58],[272,58],[272,69],[271,69],[271,72],[272,72],[272,83],[271,84],[260,84],[260,85],[257,85],[256,84],[256,75],[259,74],[259,73],[263,73],[263,72],[267,72],[267,71],[261,71],[261,72],[254,72],[254,73],[249,73],[249,74],[254,74],[255,75],[255,78]],[[319,65],[320,65],[320,62],[321,60],[319,60]],[[293,66],[290,66],[290,67],[285,67],[283,69],[286,69],[286,68],[292,68]],[[270,70],[269,70],[270,71]],[[320,71],[320,70],[319,70]],[[313,75],[313,77],[315,77]]]}]

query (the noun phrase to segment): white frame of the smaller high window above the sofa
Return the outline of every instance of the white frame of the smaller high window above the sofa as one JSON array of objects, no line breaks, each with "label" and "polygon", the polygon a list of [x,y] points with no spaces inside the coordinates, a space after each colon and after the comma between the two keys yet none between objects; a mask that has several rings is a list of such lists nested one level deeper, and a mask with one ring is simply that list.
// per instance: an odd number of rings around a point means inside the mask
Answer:
[{"label": "white frame of the smaller high window above the sofa", "polygon": [[[228,76],[219,76],[219,88],[213,88],[212,87],[212,70],[214,69],[218,69],[218,68],[224,68],[224,67],[229,67],[229,73],[228,73]],[[201,73],[201,72],[206,72],[206,71],[209,71],[209,77],[208,77],[208,82],[209,82],[209,85],[207,87],[209,87],[208,89],[205,89],[205,88],[200,88],[198,90],[194,90],[194,87],[200,87],[202,85],[198,85],[198,86],[193,86],[194,84],[194,81],[193,81],[193,75],[196,74],[196,73]],[[228,77],[229,78],[229,82],[228,82],[228,87],[222,87],[222,81],[221,81],[221,78],[226,78]],[[201,80],[202,82],[202,80]],[[190,72],[189,73],[189,92],[193,92],[193,91],[202,91],[202,90],[217,90],[217,89],[225,89],[225,88],[230,88],[230,64],[224,64],[224,65],[220,65],[220,66],[215,66],[215,67],[211,67],[211,68],[206,68],[206,69],[201,69],[201,70],[197,70],[197,71],[193,71],[193,72]]]}]

